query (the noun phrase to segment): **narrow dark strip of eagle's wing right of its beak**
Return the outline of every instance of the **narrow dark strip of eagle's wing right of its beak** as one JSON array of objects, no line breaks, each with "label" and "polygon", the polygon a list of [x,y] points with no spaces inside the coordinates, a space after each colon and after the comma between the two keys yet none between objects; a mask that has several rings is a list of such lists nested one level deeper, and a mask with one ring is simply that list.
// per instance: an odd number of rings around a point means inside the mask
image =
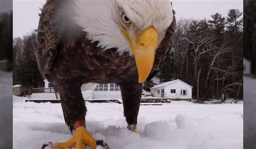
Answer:
[{"label": "narrow dark strip of eagle's wing right of its beak", "polygon": [[[175,14],[174,11],[173,11],[173,14]],[[154,71],[152,71],[149,77],[147,77],[146,79],[147,81],[151,80],[158,73],[161,65],[164,62],[165,57],[169,54],[172,47],[175,29],[176,29],[176,18],[175,18],[175,15],[173,15],[173,21],[169,26],[169,28],[166,30],[164,39],[161,41],[156,51],[156,56],[154,59],[154,66],[156,67],[153,67]]]}]

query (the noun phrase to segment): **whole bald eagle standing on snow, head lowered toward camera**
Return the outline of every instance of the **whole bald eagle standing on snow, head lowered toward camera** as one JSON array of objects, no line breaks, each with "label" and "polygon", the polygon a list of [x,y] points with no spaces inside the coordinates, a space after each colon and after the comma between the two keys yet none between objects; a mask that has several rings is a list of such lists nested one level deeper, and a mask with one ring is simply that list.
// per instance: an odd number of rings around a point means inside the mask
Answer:
[{"label": "whole bald eagle standing on snow, head lowered toward camera", "polygon": [[75,130],[51,148],[108,148],[86,130],[81,86],[88,83],[120,86],[127,128],[136,132],[143,82],[159,71],[175,28],[169,0],[48,0],[37,30],[38,67]]}]

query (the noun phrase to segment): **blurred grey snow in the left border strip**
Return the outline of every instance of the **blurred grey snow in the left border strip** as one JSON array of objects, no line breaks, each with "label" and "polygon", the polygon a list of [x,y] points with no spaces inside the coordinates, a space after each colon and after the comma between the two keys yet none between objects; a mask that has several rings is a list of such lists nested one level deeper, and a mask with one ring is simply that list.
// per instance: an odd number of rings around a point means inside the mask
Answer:
[{"label": "blurred grey snow in the left border strip", "polygon": [[0,148],[12,148],[12,73],[0,71]]}]

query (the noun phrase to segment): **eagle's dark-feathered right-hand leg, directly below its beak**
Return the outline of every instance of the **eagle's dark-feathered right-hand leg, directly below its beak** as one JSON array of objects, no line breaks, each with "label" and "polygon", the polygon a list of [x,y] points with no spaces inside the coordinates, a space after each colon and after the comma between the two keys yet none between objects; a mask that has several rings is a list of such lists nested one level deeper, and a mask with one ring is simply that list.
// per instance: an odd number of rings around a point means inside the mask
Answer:
[{"label": "eagle's dark-feathered right-hand leg, directly below its beak", "polygon": [[142,97],[142,84],[134,81],[119,83],[122,92],[124,116],[127,128],[137,132],[137,117],[139,113],[140,98]]}]

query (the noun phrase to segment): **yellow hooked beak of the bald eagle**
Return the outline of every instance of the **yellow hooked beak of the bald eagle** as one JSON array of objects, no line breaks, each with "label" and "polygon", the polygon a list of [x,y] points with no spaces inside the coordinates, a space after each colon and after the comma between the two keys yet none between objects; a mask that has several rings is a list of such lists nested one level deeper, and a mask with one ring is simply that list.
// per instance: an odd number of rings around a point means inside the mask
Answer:
[{"label": "yellow hooked beak of the bald eagle", "polygon": [[157,49],[158,42],[158,32],[153,27],[147,28],[142,33],[137,32],[137,41],[133,42],[130,38],[129,33],[123,28],[121,32],[128,40],[133,56],[136,61],[138,73],[139,73],[139,83],[143,83],[149,76],[153,63],[154,55]]}]

